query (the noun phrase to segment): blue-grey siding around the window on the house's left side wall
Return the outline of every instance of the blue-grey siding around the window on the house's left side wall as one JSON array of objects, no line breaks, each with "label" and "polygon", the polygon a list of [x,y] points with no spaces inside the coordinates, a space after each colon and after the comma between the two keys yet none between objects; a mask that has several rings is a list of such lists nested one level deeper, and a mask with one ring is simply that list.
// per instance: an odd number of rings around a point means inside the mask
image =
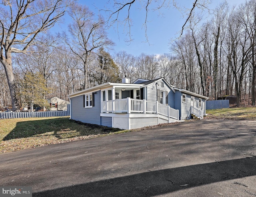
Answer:
[{"label": "blue-grey siding around the window on the house's left side wall", "polygon": [[94,94],[94,106],[84,108],[84,96],[76,96],[71,99],[71,119],[84,123],[100,125],[100,91]]}]

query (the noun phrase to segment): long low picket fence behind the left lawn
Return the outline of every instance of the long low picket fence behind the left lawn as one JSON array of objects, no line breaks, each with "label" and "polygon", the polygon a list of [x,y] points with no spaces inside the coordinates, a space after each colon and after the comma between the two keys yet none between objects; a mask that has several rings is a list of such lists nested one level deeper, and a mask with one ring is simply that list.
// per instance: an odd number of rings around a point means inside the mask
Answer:
[{"label": "long low picket fence behind the left lawn", "polygon": [[28,112],[0,112],[0,119],[26,118],[26,117],[54,117],[68,116],[68,111],[28,111]]}]

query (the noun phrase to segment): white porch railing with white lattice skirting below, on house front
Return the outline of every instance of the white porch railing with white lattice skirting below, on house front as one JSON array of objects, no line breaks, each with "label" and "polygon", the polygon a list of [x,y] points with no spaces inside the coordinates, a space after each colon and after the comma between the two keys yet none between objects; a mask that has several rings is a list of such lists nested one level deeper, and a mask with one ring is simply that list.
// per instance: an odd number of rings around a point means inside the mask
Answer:
[{"label": "white porch railing with white lattice skirting below, on house front", "polygon": [[180,121],[179,110],[158,101],[151,102],[129,97],[102,101],[100,116],[108,118],[112,127],[120,129],[137,129]]}]

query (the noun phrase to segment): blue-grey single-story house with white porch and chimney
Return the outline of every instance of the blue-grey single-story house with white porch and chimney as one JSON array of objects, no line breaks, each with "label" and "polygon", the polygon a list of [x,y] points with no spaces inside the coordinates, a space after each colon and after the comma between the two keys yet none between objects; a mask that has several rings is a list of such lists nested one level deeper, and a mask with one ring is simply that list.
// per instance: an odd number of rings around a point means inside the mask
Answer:
[{"label": "blue-grey single-story house with white porch and chimney", "polygon": [[120,129],[200,119],[205,96],[170,86],[164,78],[138,79],[130,84],[104,83],[69,95],[70,119]]}]

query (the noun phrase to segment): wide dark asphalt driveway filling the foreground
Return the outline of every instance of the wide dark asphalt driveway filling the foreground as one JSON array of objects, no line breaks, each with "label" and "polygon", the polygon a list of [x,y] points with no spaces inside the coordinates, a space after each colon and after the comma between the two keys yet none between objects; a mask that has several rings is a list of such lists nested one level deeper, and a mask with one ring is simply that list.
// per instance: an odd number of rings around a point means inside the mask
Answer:
[{"label": "wide dark asphalt driveway filling the foreground", "polygon": [[256,121],[202,120],[0,154],[33,196],[256,195]]}]

